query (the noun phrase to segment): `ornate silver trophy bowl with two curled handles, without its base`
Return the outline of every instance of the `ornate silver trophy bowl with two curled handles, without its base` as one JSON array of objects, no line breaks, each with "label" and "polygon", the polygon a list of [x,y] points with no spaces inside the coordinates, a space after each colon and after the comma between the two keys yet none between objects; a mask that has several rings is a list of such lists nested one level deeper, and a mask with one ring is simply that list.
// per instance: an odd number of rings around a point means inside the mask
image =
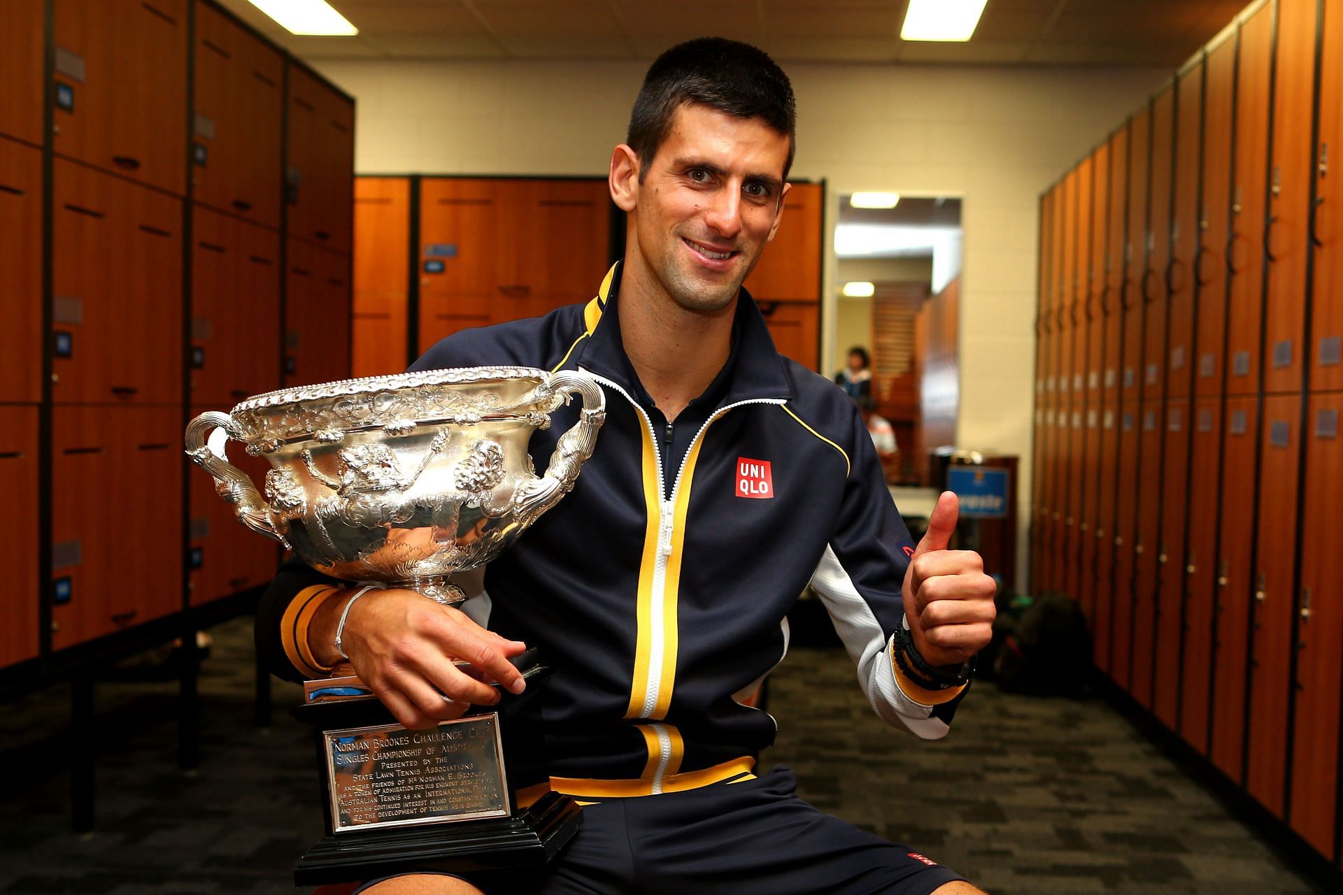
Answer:
[{"label": "ornate silver trophy bowl with two curled handles, without its base", "polygon": [[[544,475],[528,440],[577,393],[579,421]],[[569,490],[606,399],[584,373],[474,366],[281,389],[187,427],[187,455],[238,519],[345,581],[418,590],[489,562]],[[266,458],[266,499],[228,463],[228,439]]]}]

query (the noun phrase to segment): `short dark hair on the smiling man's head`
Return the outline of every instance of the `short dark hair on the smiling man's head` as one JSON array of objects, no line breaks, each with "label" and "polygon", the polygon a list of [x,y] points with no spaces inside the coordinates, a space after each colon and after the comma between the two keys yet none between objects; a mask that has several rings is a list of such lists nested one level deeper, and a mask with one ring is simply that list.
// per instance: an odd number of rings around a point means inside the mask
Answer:
[{"label": "short dark hair on the smiling man's head", "polygon": [[639,180],[672,130],[677,109],[690,103],[737,118],[763,118],[787,136],[788,160],[783,165],[787,178],[798,145],[798,110],[788,75],[768,54],[748,43],[697,38],[663,52],[643,76],[624,138],[639,156]]}]

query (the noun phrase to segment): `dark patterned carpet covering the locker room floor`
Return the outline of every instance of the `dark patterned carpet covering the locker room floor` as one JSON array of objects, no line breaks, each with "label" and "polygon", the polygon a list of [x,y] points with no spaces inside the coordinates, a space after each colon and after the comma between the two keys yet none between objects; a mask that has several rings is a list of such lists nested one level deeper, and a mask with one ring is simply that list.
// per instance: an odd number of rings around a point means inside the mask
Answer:
[{"label": "dark patterned carpet covering the locker room floor", "polygon": [[[98,686],[70,733],[68,687],[0,706],[0,892],[291,892],[321,835],[297,688],[252,723],[250,620],[216,628],[200,679],[201,762],[177,770],[172,683]],[[779,741],[823,810],[904,841],[994,895],[1320,891],[1099,699],[978,684],[951,735],[921,742],[868,707],[847,656],[795,649],[771,680]],[[71,750],[98,754],[97,831],[70,832]]]}]

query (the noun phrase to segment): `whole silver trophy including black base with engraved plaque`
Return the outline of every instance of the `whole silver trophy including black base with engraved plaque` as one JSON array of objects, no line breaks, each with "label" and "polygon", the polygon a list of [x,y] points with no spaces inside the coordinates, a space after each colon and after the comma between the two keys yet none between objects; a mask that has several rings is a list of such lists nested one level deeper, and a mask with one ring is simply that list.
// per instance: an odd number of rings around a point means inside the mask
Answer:
[{"label": "whole silver trophy including black base with engraved plaque", "polygon": [[[579,420],[537,475],[528,439],[572,394],[583,401]],[[187,427],[187,455],[214,476],[239,522],[313,569],[453,605],[465,594],[450,576],[498,556],[573,487],[604,408],[583,373],[493,366],[377,376],[201,413]],[[266,499],[228,463],[230,439],[270,462]],[[547,674],[535,649],[513,662],[529,682]],[[330,835],[299,859],[295,884],[539,864],[576,831],[579,806],[568,796],[516,805],[506,713],[473,708],[408,730],[348,666],[304,691],[294,714],[314,727]]]}]

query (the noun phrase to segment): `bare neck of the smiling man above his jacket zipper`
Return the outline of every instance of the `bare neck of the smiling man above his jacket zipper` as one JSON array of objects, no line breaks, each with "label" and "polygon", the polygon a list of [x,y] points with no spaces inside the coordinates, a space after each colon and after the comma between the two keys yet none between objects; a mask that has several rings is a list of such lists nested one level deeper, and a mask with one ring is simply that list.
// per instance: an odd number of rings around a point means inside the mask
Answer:
[{"label": "bare neck of the smiling man above his jacket zipper", "polygon": [[686,310],[638,259],[626,258],[620,341],[639,382],[667,421],[700,397],[728,362],[736,307],[733,299],[710,314]]}]

